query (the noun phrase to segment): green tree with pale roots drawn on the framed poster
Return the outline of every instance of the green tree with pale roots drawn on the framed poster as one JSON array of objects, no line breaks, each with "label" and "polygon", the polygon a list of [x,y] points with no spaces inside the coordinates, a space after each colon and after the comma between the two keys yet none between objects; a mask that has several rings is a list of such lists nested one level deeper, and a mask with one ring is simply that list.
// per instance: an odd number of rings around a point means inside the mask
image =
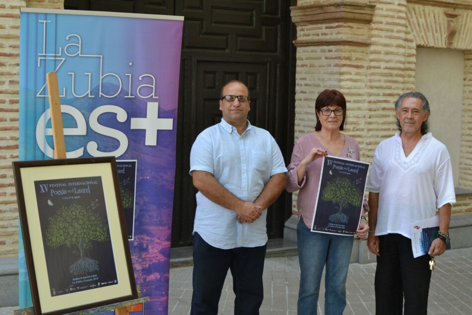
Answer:
[{"label": "green tree with pale roots drawn on the framed poster", "polygon": [[110,239],[108,224],[96,212],[73,204],[62,206],[57,213],[49,218],[46,230],[46,244],[51,248],[66,245],[71,248],[77,246],[80,258],[69,272],[75,276],[97,272],[98,261],[85,257],[84,251],[93,246],[92,241],[106,242]]}]

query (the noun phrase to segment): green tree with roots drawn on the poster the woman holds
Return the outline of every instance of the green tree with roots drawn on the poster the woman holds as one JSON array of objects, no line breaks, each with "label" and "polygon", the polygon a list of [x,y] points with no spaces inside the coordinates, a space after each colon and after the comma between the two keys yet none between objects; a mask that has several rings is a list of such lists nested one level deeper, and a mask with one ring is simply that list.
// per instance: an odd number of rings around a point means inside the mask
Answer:
[{"label": "green tree with roots drawn on the poster the woman holds", "polygon": [[349,217],[342,212],[348,204],[353,206],[361,205],[361,193],[353,182],[347,178],[335,178],[329,181],[323,189],[321,200],[332,202],[338,211],[329,216],[329,221],[333,223],[346,224]]}]

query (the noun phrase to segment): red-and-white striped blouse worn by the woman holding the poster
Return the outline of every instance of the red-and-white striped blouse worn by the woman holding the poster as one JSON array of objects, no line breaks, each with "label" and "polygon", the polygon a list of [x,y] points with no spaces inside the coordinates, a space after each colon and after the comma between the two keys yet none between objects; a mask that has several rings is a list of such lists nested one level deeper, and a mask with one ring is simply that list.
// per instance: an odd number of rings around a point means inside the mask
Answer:
[{"label": "red-and-white striped blouse worn by the woman holding the poster", "polygon": [[[316,196],[318,195],[318,183],[321,176],[321,166],[323,159],[316,159],[307,167],[302,183],[298,184],[297,167],[313,148],[323,148],[328,155],[333,154],[315,137],[313,132],[301,136],[293,148],[292,158],[287,166],[287,186],[286,190],[293,193],[300,190],[297,199],[298,219],[303,216],[303,221],[310,227],[315,213]],[[349,156],[348,156],[349,154]],[[338,157],[359,161],[359,143],[352,137],[344,135],[344,147]],[[369,210],[367,200],[364,197],[364,209]]]}]

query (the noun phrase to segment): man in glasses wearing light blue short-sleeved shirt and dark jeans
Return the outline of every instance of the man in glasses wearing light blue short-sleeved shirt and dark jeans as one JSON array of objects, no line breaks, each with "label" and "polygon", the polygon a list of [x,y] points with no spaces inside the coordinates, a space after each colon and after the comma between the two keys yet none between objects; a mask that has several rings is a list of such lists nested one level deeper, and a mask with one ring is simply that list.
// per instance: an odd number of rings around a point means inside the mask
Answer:
[{"label": "man in glasses wearing light blue short-sleeved shirt and dark jeans", "polygon": [[285,162],[270,133],[247,120],[249,91],[221,90],[223,119],[200,133],[190,153],[196,195],[192,315],[216,315],[228,269],[235,315],[258,315],[267,244],[267,208],[285,188]]}]

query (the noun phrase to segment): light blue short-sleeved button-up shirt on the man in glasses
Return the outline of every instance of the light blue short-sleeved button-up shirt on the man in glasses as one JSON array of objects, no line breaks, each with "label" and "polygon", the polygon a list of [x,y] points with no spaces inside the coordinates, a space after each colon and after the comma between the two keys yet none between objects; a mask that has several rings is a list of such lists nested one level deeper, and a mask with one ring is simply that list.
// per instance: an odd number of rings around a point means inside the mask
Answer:
[{"label": "light blue short-sleeved button-up shirt on the man in glasses", "polygon": [[[254,202],[270,177],[286,173],[275,139],[267,130],[252,126],[239,135],[224,119],[203,130],[190,152],[192,171],[211,173],[237,198]],[[252,223],[239,223],[237,213],[215,204],[198,192],[193,232],[222,249],[256,247],[267,243],[267,210]]]}]

